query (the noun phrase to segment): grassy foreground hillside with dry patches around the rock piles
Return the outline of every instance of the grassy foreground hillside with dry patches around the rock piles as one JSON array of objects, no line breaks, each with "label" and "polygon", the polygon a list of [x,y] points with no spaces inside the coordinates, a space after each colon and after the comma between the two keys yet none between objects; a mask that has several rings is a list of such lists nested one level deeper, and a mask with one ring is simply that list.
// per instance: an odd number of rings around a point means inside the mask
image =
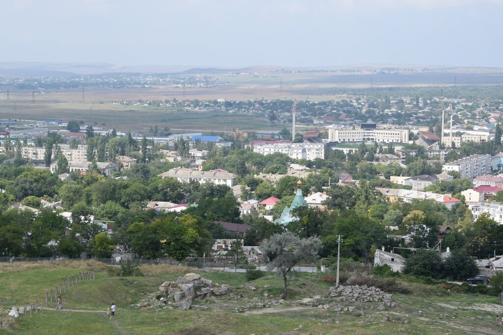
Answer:
[{"label": "grassy foreground hillside with dry patches around the rock piles", "polygon": [[[93,268],[97,269],[96,281],[83,282],[63,294],[63,310],[57,311],[54,306],[49,306],[39,310],[31,318],[21,315],[14,326],[3,329],[2,333],[496,334],[501,329],[493,322],[495,314],[503,312],[496,297],[458,294],[439,286],[419,283],[404,283],[411,293],[393,294],[396,305],[386,307],[385,310],[375,308],[372,303],[358,302],[353,303],[355,311],[352,312],[333,311],[332,307],[338,303],[326,300],[324,303],[331,306],[328,309],[295,304],[294,301],[298,299],[326,296],[328,287],[333,285],[320,282],[317,276],[307,273],[297,274],[290,279],[291,291],[284,304],[236,313],[235,307],[242,306],[253,298],[266,302],[277,300],[282,290],[281,279],[270,274],[249,282],[257,287],[257,290],[250,290],[246,288],[244,274],[209,273],[175,266],[142,266],[141,270],[152,276],[122,278],[107,278],[106,266],[94,262],[53,263],[51,266],[35,264],[31,267],[25,265],[19,271],[10,268],[9,272],[0,267],[0,280],[3,283],[13,283],[10,287],[0,288],[0,304],[3,309],[7,309],[12,307],[7,301],[33,301],[43,294],[42,291],[50,284],[50,278],[54,283],[68,273]],[[232,296],[211,297],[197,302],[207,306],[207,310],[130,307],[146,294],[155,292],[163,281],[187,272],[199,273],[220,284],[230,281]],[[158,278],[159,274],[161,278]],[[25,277],[32,279],[28,281]],[[264,287],[265,285],[270,287]],[[266,291],[268,297],[264,297],[263,293]],[[19,296],[22,298],[18,298]],[[107,318],[105,312],[112,302],[117,305],[114,320]]]}]

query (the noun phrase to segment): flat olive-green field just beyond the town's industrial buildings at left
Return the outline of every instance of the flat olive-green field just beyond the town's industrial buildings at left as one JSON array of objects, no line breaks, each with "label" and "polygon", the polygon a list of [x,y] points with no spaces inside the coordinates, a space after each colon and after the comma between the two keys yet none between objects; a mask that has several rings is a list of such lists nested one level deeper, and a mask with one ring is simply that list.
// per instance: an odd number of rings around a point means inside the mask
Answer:
[{"label": "flat olive-green field just beyond the town's industrial buildings at left", "polygon": [[124,106],[119,104],[81,102],[0,103],[0,119],[5,120],[76,120],[118,131],[144,132],[157,125],[181,131],[230,131],[281,129],[270,128],[267,116],[229,114],[219,111],[179,111],[155,106]]}]

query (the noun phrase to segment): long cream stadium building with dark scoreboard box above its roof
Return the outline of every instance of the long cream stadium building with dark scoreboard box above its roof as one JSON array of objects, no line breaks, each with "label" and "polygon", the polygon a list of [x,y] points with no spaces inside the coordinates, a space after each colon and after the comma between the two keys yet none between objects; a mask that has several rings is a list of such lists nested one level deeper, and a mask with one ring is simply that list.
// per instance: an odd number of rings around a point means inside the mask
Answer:
[{"label": "long cream stadium building with dark scoreboard box above its roof", "polygon": [[328,127],[328,142],[408,143],[408,130],[334,129]]}]

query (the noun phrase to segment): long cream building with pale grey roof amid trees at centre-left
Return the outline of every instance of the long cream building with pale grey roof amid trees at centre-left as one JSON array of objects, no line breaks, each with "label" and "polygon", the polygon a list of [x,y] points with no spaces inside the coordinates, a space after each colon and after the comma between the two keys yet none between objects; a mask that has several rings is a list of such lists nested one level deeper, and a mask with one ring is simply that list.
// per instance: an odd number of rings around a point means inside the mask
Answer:
[{"label": "long cream building with pale grey roof amid trees at centre-left", "polygon": [[158,174],[159,177],[175,178],[178,181],[188,183],[191,180],[198,181],[199,183],[204,183],[209,181],[210,183],[217,185],[228,185],[229,187],[234,186],[236,181],[236,175],[230,172],[222,172],[218,170],[213,171],[195,171],[187,168],[175,168]]}]

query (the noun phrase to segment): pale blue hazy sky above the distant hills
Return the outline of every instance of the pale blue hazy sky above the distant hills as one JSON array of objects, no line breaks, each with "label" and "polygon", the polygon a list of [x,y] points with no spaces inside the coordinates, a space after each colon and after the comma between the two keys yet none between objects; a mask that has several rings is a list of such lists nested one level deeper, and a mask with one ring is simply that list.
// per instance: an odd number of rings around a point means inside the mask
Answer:
[{"label": "pale blue hazy sky above the distant hills", "polygon": [[2,0],[0,61],[503,67],[503,0]]}]

